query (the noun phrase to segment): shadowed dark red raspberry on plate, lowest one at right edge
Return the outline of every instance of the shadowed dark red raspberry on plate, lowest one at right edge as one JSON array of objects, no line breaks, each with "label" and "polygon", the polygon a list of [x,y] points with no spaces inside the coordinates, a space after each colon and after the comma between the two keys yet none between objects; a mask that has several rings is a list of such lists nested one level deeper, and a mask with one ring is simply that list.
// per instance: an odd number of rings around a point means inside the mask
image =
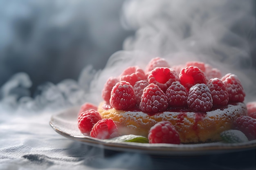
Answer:
[{"label": "shadowed dark red raspberry on plate, lowest one at right edge", "polygon": [[242,131],[249,140],[256,139],[256,119],[249,116],[240,116],[234,121],[234,128]]}]

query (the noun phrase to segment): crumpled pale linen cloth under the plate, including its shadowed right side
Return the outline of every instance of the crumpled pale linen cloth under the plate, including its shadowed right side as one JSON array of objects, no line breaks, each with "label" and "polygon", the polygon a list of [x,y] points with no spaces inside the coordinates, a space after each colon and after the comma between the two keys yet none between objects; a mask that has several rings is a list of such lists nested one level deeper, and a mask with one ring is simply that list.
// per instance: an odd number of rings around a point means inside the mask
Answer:
[{"label": "crumpled pale linen cloth under the plate, including its shadowed right side", "polygon": [[57,134],[49,126],[53,114],[1,113],[0,170],[256,169],[255,150],[166,157],[88,146]]}]

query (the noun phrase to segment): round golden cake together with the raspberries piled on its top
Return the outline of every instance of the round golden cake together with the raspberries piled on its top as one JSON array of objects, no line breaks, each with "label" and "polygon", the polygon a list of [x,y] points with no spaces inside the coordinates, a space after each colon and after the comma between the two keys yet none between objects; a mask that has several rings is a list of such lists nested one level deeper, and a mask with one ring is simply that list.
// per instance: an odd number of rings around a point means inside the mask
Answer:
[{"label": "round golden cake together with the raspberries piled on its top", "polygon": [[234,74],[222,76],[217,68],[197,61],[171,67],[156,57],[145,69],[130,66],[119,77],[110,77],[97,112],[115,123],[119,135],[148,137],[155,124],[169,121],[180,143],[215,142],[238,117],[247,115],[244,97]]}]

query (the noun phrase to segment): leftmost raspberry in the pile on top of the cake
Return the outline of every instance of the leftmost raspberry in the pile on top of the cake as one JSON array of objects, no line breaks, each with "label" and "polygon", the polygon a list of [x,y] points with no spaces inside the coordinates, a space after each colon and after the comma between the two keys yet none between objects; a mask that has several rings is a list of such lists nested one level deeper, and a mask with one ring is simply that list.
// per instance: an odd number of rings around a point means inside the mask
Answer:
[{"label": "leftmost raspberry in the pile on top of the cake", "polygon": [[103,90],[101,93],[101,97],[107,103],[109,103],[111,90],[112,90],[113,86],[115,86],[115,84],[117,84],[117,82],[119,82],[119,79],[117,79],[117,77],[109,77],[107,82],[104,84],[104,87],[103,87]]}]

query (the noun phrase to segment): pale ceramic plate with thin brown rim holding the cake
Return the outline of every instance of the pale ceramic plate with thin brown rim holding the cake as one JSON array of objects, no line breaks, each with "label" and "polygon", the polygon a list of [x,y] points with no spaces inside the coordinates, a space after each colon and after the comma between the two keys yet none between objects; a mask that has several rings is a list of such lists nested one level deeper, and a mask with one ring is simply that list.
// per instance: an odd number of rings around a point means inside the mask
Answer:
[{"label": "pale ceramic plate with thin brown rim holding the cake", "polygon": [[169,156],[198,156],[214,153],[238,152],[256,148],[256,140],[237,144],[222,142],[205,144],[141,144],[134,142],[116,142],[101,140],[81,134],[77,127],[77,114],[79,108],[70,108],[54,114],[49,122],[50,126],[60,135],[69,139],[83,142],[114,151],[141,152],[152,155]]}]

